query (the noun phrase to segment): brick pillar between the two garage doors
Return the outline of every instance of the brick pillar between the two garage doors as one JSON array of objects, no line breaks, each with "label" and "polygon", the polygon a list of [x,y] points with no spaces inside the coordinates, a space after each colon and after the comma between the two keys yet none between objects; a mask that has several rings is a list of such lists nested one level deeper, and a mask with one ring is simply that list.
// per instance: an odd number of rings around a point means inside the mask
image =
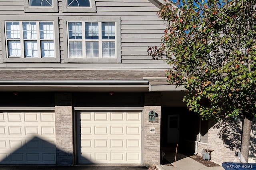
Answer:
[{"label": "brick pillar between the two garage doors", "polygon": [[55,94],[56,164],[73,165],[72,94]]}]

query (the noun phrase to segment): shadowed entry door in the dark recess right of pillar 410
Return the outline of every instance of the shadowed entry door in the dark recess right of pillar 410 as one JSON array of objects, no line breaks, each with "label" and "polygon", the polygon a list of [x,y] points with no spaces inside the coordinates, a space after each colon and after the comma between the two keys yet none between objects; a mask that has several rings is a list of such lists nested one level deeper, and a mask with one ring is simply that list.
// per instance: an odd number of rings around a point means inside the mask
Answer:
[{"label": "shadowed entry door in the dark recess right of pillar 410", "polygon": [[168,115],[168,143],[179,143],[180,115]]}]

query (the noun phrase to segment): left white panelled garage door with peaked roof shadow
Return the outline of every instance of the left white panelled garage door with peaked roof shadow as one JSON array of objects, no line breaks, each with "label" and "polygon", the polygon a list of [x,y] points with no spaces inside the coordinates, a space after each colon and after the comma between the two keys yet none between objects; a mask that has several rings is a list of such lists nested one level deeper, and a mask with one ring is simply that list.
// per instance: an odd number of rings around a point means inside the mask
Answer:
[{"label": "left white panelled garage door with peaked roof shadow", "polygon": [[0,164],[56,164],[55,141],[54,113],[0,113]]}]

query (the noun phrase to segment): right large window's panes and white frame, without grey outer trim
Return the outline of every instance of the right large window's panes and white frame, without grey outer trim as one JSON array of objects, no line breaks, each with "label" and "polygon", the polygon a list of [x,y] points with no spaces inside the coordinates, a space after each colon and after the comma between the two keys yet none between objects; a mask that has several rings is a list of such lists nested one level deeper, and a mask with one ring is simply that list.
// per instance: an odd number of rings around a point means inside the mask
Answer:
[{"label": "right large window's panes and white frame, without grey outer trim", "polygon": [[116,58],[115,22],[68,22],[70,58]]}]

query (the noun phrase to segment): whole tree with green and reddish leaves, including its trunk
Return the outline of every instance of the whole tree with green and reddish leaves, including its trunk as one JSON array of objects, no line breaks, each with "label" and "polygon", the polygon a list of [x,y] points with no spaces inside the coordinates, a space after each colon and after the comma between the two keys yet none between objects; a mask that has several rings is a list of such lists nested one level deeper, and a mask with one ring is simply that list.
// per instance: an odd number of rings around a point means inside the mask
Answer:
[{"label": "whole tree with green and reddish leaves, including its trunk", "polygon": [[184,85],[188,109],[204,119],[244,118],[241,152],[248,162],[256,117],[256,1],[164,0],[158,15],[166,29],[148,55],[170,65],[167,81]]}]

